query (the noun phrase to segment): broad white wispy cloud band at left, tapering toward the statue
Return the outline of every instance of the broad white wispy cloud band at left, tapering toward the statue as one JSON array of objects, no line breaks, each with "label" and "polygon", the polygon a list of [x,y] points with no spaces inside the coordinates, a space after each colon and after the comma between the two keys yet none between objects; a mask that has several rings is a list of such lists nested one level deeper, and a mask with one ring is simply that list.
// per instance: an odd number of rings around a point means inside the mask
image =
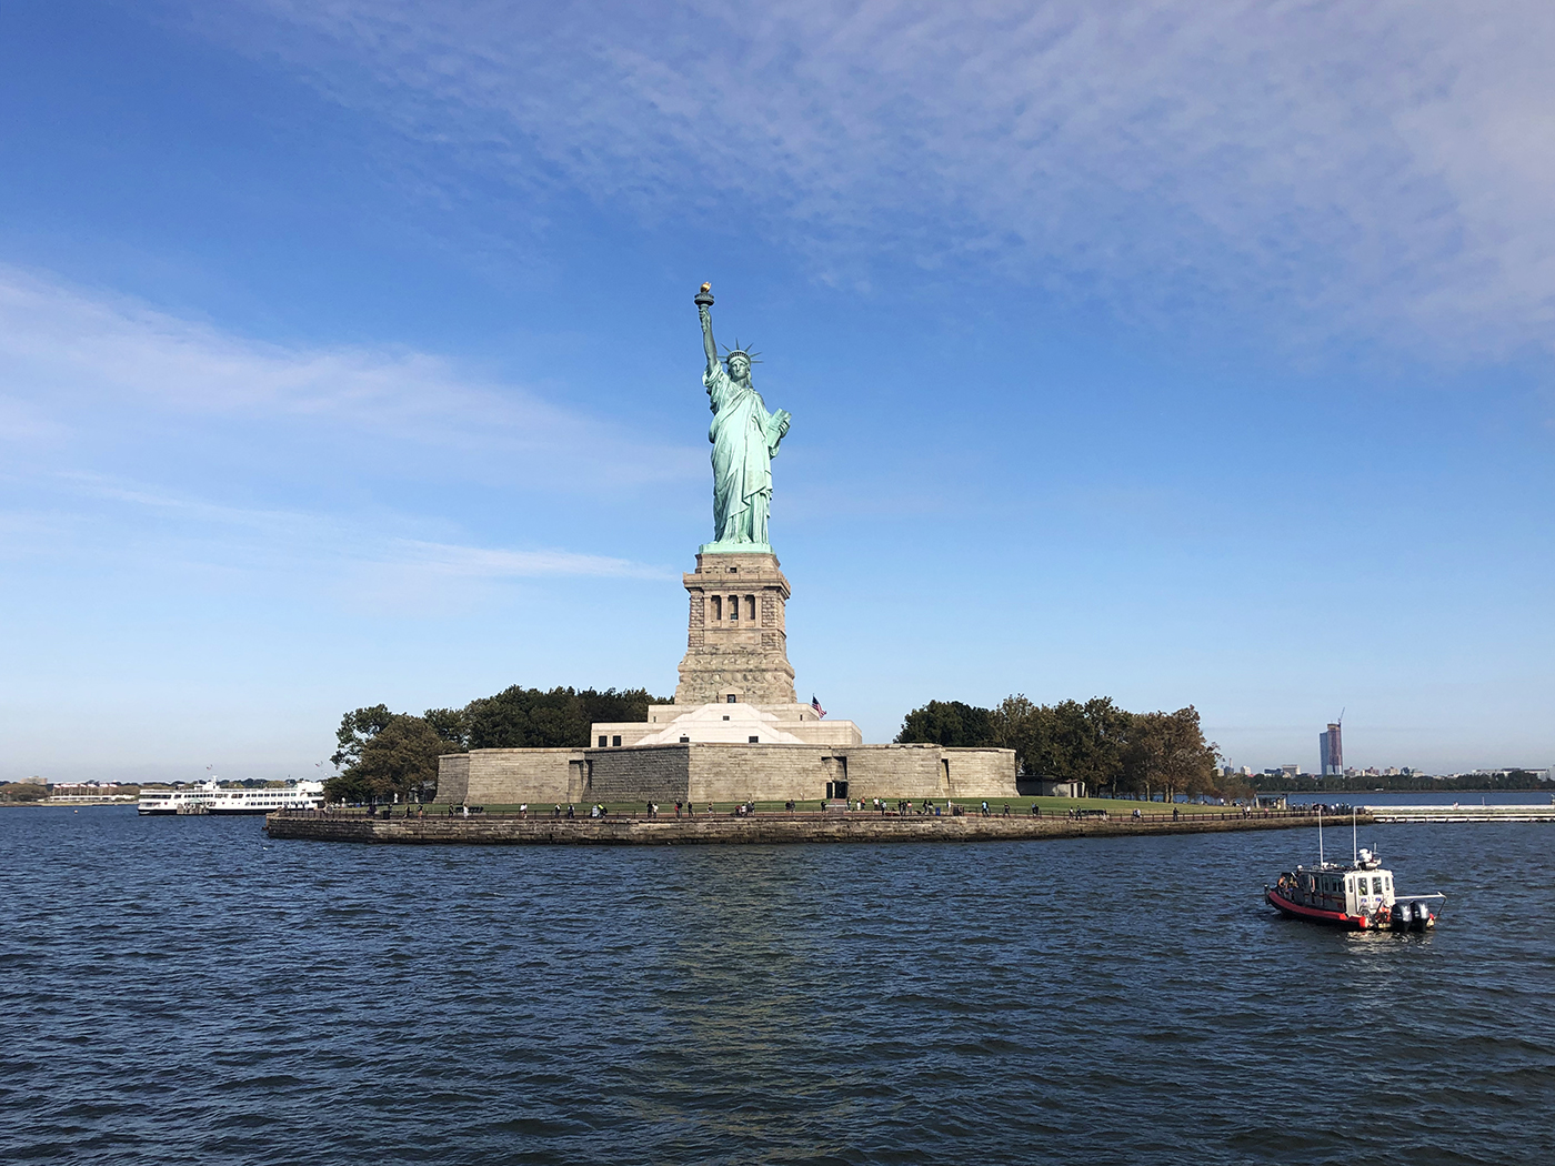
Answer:
[{"label": "broad white wispy cloud band at left, tapering toward the statue", "polygon": [[687,477],[697,462],[437,354],[263,344],[0,266],[0,438],[61,442],[104,409],[409,443],[453,454],[451,477],[494,465],[578,491]]}]

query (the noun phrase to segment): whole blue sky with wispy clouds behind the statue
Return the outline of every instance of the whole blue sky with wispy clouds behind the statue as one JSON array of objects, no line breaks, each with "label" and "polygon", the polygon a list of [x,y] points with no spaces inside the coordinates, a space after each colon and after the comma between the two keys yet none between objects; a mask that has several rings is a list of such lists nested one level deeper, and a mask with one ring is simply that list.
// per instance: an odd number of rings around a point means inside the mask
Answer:
[{"label": "whole blue sky with wispy clouds behind the statue", "polygon": [[703,280],[868,740],[1555,762],[1555,9],[0,9],[0,777],[672,692]]}]

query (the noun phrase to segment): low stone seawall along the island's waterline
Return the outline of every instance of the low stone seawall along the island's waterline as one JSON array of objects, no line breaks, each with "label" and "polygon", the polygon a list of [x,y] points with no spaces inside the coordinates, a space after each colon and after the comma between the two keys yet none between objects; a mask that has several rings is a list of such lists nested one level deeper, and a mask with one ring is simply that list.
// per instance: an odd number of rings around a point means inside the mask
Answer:
[{"label": "low stone seawall along the island's waterline", "polygon": [[[1370,815],[1361,815],[1370,824]],[[1330,822],[1333,824],[1333,822]],[[1183,815],[1137,821],[1118,818],[882,818],[872,813],[768,813],[748,818],[519,818],[471,815],[449,818],[369,818],[359,813],[285,810],[264,819],[271,838],[322,843],[397,843],[409,846],[700,846],[773,843],[989,843],[1020,838],[1107,838],[1120,835],[1288,830],[1317,826],[1314,815]]]}]

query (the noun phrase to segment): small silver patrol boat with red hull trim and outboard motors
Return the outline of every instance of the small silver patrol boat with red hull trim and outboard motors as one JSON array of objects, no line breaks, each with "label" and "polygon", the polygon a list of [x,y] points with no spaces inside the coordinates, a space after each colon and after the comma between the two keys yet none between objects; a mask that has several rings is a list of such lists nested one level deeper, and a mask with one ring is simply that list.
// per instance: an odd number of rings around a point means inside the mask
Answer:
[{"label": "small silver patrol boat with red hull trim and outboard motors", "polygon": [[1322,832],[1319,819],[1317,866],[1286,871],[1274,886],[1264,886],[1264,899],[1280,914],[1351,931],[1424,931],[1437,925],[1446,895],[1396,894],[1393,872],[1384,871],[1372,850],[1356,847],[1351,863],[1323,861]]}]

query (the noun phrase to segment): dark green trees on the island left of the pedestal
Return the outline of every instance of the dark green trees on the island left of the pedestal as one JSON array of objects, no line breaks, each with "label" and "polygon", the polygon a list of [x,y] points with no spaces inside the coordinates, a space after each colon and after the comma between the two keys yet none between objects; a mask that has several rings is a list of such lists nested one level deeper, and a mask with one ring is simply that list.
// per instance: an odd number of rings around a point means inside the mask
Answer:
[{"label": "dark green trees on the island left of the pedestal", "polygon": [[330,762],[339,773],[323,784],[331,802],[431,798],[437,759],[468,749],[580,749],[596,721],[645,721],[650,704],[669,704],[647,689],[526,689],[515,684],[462,709],[428,709],[420,717],[387,704],[353,709],[341,718]]}]

